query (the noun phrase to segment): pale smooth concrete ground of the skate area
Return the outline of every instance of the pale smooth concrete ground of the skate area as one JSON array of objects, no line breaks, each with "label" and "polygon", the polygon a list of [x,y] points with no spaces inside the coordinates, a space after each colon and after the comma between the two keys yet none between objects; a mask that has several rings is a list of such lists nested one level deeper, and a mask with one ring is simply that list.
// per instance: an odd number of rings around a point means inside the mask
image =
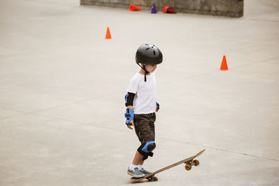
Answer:
[{"label": "pale smooth concrete ground of the skate area", "polygon": [[130,184],[124,95],[145,42],[164,56],[145,168],[206,151],[144,184],[279,185],[279,1],[244,3],[231,18],[0,1],[0,185]]}]

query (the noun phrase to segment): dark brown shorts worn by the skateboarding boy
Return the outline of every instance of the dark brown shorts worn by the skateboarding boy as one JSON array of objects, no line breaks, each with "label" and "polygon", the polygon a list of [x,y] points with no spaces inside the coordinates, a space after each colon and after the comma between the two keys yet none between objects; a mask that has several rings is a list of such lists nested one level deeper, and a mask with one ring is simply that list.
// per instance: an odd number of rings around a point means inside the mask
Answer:
[{"label": "dark brown shorts worn by the skateboarding boy", "polygon": [[155,112],[151,114],[135,114],[135,133],[142,144],[155,140]]}]

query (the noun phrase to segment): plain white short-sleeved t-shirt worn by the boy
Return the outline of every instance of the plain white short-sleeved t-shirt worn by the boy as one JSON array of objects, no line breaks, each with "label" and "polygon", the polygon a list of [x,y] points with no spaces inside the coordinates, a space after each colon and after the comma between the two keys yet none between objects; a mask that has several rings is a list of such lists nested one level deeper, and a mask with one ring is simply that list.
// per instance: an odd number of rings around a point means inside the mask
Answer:
[{"label": "plain white short-sleeved t-shirt worn by the boy", "polygon": [[156,111],[156,78],[155,74],[144,75],[137,72],[131,79],[127,92],[135,93],[133,102],[134,114],[149,114]]}]

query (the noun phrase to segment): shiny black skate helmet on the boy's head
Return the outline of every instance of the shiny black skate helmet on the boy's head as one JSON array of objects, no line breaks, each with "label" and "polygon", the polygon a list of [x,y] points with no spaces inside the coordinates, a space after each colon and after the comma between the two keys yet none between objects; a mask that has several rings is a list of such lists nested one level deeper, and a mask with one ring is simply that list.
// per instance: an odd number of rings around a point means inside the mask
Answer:
[{"label": "shiny black skate helmet on the boy's head", "polygon": [[162,63],[163,54],[158,47],[152,44],[140,45],[135,54],[135,61],[137,64],[157,65]]}]

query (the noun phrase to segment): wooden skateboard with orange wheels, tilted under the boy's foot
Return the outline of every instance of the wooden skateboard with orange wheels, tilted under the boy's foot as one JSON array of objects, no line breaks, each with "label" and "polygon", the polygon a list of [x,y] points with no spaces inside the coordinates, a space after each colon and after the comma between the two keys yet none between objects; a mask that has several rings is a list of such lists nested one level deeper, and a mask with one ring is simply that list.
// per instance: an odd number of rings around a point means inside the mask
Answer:
[{"label": "wooden skateboard with orange wheels, tilted under the boy's foot", "polygon": [[[204,149],[204,150],[205,150],[205,149]],[[192,166],[193,166],[193,165],[194,165],[194,166],[198,166],[198,165],[199,165],[199,160],[194,160],[194,159],[195,159],[195,157],[197,157],[197,156],[201,155],[202,153],[204,153],[204,150],[200,151],[199,153],[197,153],[196,155],[194,155],[194,156],[192,156],[192,157],[188,157],[188,158],[186,158],[185,160],[181,160],[180,162],[176,162],[175,164],[171,164],[171,165],[169,165],[169,166],[166,166],[165,168],[159,169],[158,171],[155,171],[155,172],[153,172],[153,173],[151,173],[151,174],[149,174],[149,175],[146,175],[146,176],[144,176],[144,177],[142,177],[142,178],[135,178],[135,177],[132,177],[132,178],[130,178],[130,180],[131,180],[133,183],[136,183],[136,182],[152,182],[152,181],[157,181],[158,178],[155,176],[156,173],[160,173],[160,172],[162,172],[162,171],[165,171],[165,170],[167,170],[167,169],[170,169],[170,168],[172,168],[172,167],[174,167],[174,166],[177,166],[177,165],[183,164],[183,163],[186,164],[186,165],[185,165],[185,169],[186,169],[187,171],[190,171],[190,169],[192,169]]]}]

